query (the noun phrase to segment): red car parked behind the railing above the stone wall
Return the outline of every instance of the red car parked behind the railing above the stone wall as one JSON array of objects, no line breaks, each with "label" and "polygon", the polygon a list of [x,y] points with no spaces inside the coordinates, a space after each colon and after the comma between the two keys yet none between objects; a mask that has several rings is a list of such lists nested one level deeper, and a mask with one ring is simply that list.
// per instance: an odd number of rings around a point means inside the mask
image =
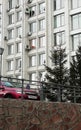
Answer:
[{"label": "red car parked behind the railing above the stone wall", "polygon": [[40,100],[40,96],[36,91],[31,89],[23,89],[13,87],[10,82],[0,83],[0,98],[13,98],[13,99],[29,99],[29,100]]}]

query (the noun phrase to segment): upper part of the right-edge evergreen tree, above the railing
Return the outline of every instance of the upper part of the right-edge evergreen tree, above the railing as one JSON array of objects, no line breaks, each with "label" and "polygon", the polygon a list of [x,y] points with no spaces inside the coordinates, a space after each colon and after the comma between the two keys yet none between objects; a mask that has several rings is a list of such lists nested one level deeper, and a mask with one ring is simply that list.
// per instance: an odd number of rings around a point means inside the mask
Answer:
[{"label": "upper part of the right-edge evergreen tree, above the railing", "polygon": [[70,63],[70,84],[81,87],[81,46]]}]

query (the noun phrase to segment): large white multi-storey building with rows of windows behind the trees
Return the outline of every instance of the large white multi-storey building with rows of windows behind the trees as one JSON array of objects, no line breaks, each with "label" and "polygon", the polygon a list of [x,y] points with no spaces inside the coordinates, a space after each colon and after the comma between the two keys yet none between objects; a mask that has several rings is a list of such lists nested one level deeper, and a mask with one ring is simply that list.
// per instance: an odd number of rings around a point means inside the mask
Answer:
[{"label": "large white multi-storey building with rows of windows behind the trees", "polygon": [[81,44],[81,0],[2,1],[2,74],[44,79],[50,50],[62,44],[68,63]]}]

